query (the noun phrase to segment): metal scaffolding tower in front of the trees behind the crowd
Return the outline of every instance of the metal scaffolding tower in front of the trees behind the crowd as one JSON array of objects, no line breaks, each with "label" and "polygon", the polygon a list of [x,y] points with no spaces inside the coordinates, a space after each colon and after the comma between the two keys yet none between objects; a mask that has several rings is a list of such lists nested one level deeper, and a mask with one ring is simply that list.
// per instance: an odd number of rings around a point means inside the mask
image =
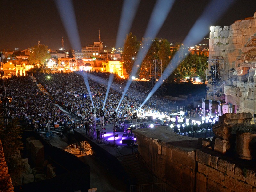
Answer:
[{"label": "metal scaffolding tower in front of the trees behind the crowd", "polygon": [[151,60],[150,64],[150,74],[149,74],[149,81],[147,82],[147,87],[150,90],[153,89],[157,81],[161,82],[161,86],[155,90],[161,96],[167,95],[167,80],[168,76],[162,76],[163,68],[162,68],[162,60],[155,59]]}]

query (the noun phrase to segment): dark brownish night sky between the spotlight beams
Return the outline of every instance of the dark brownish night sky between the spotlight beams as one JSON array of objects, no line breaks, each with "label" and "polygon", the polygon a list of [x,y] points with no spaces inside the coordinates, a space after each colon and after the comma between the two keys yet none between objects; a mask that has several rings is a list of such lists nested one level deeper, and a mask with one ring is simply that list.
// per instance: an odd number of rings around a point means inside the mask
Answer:
[{"label": "dark brownish night sky between the spotlight beams", "polygon": [[[177,0],[157,38],[166,38],[173,44],[181,43],[208,2],[207,0]],[[83,47],[98,41],[99,29],[104,46],[115,46],[122,3],[121,0],[73,1]],[[154,4],[153,0],[140,2],[130,30],[138,40],[141,40],[144,35]],[[0,12],[2,19],[0,49],[26,49],[40,41],[41,44],[56,50],[61,48],[62,37],[64,47],[72,48],[54,1],[2,0]],[[231,25],[236,20],[253,17],[254,12],[256,12],[256,0],[237,0],[218,21],[211,23],[209,28],[216,25],[221,27]]]}]

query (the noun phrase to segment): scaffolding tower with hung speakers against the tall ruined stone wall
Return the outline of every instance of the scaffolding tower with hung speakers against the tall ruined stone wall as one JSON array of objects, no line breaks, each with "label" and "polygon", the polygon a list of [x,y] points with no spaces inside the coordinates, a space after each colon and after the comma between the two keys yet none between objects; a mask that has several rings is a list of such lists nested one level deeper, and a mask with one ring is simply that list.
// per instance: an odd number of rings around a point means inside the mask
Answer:
[{"label": "scaffolding tower with hung speakers against the tall ruined stone wall", "polygon": [[225,71],[224,59],[207,59],[206,70],[206,95],[205,100],[225,100],[224,85],[227,73]]}]

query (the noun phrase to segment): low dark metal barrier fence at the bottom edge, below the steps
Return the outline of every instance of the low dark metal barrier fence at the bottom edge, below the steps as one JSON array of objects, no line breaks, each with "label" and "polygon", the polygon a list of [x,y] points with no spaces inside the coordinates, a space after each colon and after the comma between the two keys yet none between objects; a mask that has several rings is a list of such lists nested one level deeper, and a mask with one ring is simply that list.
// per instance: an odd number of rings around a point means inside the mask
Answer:
[{"label": "low dark metal barrier fence at the bottom edge, below the steps", "polygon": [[131,185],[130,192],[166,192],[165,183]]}]

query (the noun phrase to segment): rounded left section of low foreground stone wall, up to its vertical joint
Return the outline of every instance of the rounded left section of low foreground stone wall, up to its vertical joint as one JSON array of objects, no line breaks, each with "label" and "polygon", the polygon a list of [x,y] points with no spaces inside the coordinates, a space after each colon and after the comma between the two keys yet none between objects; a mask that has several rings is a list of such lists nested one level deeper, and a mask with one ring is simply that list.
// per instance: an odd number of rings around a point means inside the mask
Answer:
[{"label": "rounded left section of low foreground stone wall, up to its vertical joint", "polygon": [[196,175],[194,150],[184,151],[138,133],[136,137],[140,141],[139,153],[158,178],[178,191],[193,191]]}]

